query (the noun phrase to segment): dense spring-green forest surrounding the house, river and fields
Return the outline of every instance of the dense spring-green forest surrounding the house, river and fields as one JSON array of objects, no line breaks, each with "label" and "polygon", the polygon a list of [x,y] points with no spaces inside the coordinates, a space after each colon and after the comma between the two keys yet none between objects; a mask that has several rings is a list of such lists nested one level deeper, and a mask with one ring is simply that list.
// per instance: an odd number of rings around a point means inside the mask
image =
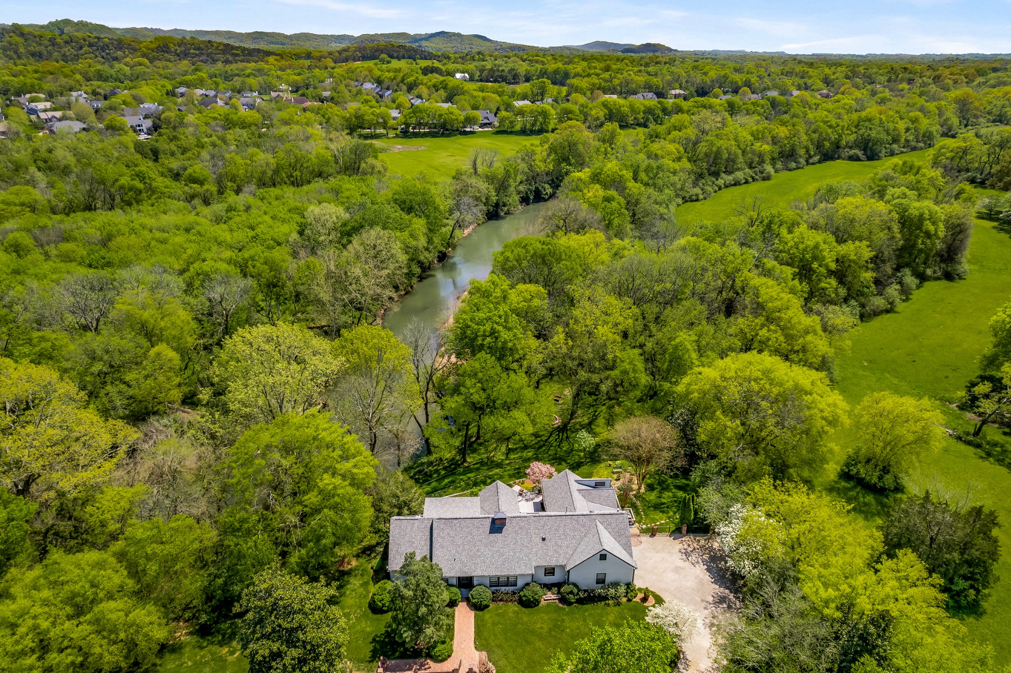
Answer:
[{"label": "dense spring-green forest surrounding the house, river and fields", "polygon": [[[204,107],[211,88],[262,99]],[[0,95],[0,671],[143,670],[180,630],[237,622],[251,670],[291,670],[272,660],[285,600],[314,605],[284,626],[297,670],[343,671],[342,578],[381,570],[389,517],[419,513],[426,484],[518,451],[588,465],[657,423],[664,451],[621,459],[640,483],[682,477],[690,522],[740,577],[725,670],[1008,664],[962,622],[1006,521],[907,483],[938,412],[835,389],[853,329],[964,279],[974,218],[1009,218],[1006,60],[267,52],[12,26]],[[85,130],[44,132],[23,96]],[[145,103],[161,109],[142,138],[122,115]],[[497,128],[464,131],[476,110]],[[372,141],[462,132],[529,141],[450,180],[391,174]],[[678,217],[892,157],[789,207]],[[541,234],[495,254],[436,342],[382,326],[464,232],[533,202]],[[1000,422],[1008,310],[968,398]],[[877,526],[817,487],[847,425],[842,478],[894,495]]]}]

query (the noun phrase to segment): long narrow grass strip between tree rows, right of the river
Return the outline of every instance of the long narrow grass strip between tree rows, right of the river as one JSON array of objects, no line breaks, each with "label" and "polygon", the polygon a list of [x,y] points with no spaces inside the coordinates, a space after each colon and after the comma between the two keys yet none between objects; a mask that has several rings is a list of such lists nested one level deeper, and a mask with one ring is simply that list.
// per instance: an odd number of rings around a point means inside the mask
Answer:
[{"label": "long narrow grass strip between tree rows, right of the river", "polygon": [[875,162],[826,162],[798,171],[776,173],[771,180],[752,182],[739,187],[729,187],[705,201],[693,201],[677,208],[678,221],[692,224],[702,220],[715,220],[733,214],[741,201],[750,202],[760,196],[768,207],[789,208],[794,199],[804,200],[814,195],[823,182],[831,180],[866,180],[871,173],[882,169],[894,159],[915,159],[926,161],[929,150],[910,152],[899,157],[890,157]]}]

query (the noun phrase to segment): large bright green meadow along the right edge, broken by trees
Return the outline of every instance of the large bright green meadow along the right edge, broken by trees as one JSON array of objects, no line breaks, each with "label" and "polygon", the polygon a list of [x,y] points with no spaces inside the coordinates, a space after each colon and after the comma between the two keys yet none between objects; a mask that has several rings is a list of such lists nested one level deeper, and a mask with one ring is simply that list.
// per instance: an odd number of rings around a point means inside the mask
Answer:
[{"label": "large bright green meadow along the right edge, broken by trees", "polygon": [[[969,263],[966,280],[927,283],[896,312],[865,322],[852,333],[849,355],[839,359],[837,384],[850,404],[876,390],[926,396],[935,400],[948,427],[972,428],[944,402],[953,401],[978,373],[977,358],[990,339],[987,324],[997,307],[1011,299],[1011,237],[977,220]],[[852,428],[838,438],[839,457],[851,438]],[[1000,579],[984,603],[983,614],[968,618],[966,624],[974,638],[996,649],[1001,664],[1011,663],[1011,500],[1007,497],[1011,472],[976,449],[946,440],[944,448],[925,461],[917,478],[925,483],[937,479],[951,489],[972,484],[976,497],[999,512]],[[880,519],[886,511],[884,498],[849,483],[825,486],[852,502],[868,520]]]}]

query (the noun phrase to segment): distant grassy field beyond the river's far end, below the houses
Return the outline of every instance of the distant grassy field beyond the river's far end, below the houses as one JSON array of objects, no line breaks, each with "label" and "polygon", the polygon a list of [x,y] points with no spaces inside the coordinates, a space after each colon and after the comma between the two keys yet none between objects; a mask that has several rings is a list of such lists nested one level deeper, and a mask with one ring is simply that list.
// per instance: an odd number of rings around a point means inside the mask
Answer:
[{"label": "distant grassy field beyond the river's far end, below the houses", "polygon": [[[375,142],[386,151],[381,160],[386,162],[391,175],[426,175],[448,179],[458,168],[467,166],[470,153],[475,148],[497,150],[502,156],[513,154],[525,142],[536,142],[538,135],[528,133],[498,133],[494,131],[467,131],[448,135],[411,134],[388,138],[377,137]],[[394,147],[416,147],[423,150],[390,151]]]}]

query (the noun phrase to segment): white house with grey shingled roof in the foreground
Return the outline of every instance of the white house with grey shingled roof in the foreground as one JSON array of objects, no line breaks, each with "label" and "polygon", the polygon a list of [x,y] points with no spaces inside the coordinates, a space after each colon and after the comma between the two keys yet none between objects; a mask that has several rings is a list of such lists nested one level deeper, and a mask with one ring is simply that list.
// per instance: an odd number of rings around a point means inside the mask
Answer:
[{"label": "white house with grey shingled roof in the foreground", "polygon": [[630,514],[610,479],[565,470],[544,480],[541,491],[496,481],[475,497],[426,498],[421,515],[390,519],[390,576],[415,552],[438,563],[443,579],[464,595],[475,584],[592,589],[634,580]]}]

